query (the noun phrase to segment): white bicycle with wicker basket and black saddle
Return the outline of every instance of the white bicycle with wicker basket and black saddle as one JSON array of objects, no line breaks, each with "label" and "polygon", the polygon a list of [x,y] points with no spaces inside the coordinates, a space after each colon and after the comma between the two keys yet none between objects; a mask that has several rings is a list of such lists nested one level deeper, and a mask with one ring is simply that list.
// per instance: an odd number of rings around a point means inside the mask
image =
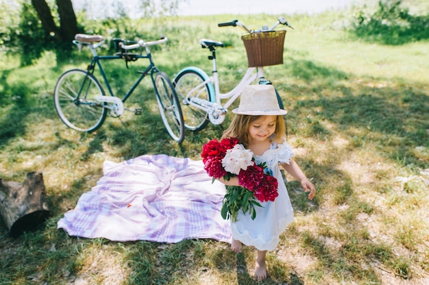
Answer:
[{"label": "white bicycle with wicker basket and black saddle", "polygon": [[[219,23],[219,27],[242,27],[247,34],[241,36],[247,52],[249,68],[241,81],[232,90],[221,93],[219,89],[219,75],[216,64],[216,49],[223,47],[223,42],[201,39],[202,48],[207,48],[212,53],[208,59],[212,60],[212,76],[195,66],[188,66],[175,76],[173,86],[181,103],[181,109],[186,129],[198,132],[204,129],[210,122],[215,125],[223,123],[228,108],[241,95],[243,88],[258,81],[258,84],[271,84],[265,79],[264,66],[283,64],[284,36],[286,29],[275,30],[284,25],[291,27],[284,17],[271,27],[251,30],[243,23],[234,20],[228,23]],[[291,27],[293,29],[293,27]],[[277,91],[276,91],[277,93]],[[278,95],[280,108],[283,108],[282,100]],[[225,103],[221,100],[228,99]]]}]

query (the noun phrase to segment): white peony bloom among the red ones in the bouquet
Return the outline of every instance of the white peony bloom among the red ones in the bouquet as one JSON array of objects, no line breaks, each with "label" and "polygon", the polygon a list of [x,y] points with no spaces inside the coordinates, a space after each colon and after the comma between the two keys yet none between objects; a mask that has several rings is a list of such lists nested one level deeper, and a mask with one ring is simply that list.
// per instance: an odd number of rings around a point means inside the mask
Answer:
[{"label": "white peony bloom among the red ones in the bouquet", "polygon": [[252,155],[252,151],[245,149],[243,145],[237,144],[232,149],[226,151],[225,157],[222,160],[223,169],[238,175],[241,169],[246,170],[247,166],[254,164]]}]

